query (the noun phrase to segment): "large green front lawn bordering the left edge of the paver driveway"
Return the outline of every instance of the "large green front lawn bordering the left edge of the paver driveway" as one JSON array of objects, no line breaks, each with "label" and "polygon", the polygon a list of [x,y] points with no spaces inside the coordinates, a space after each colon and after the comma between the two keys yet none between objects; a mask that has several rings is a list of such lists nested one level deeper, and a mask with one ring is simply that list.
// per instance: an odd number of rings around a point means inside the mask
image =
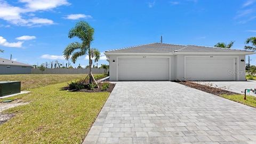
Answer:
[{"label": "large green front lawn bordering the left edge of the paver driveway", "polygon": [[30,103],[4,111],[16,115],[0,125],[0,143],[81,143],[109,93],[61,91],[66,85],[47,85],[20,95]]}]

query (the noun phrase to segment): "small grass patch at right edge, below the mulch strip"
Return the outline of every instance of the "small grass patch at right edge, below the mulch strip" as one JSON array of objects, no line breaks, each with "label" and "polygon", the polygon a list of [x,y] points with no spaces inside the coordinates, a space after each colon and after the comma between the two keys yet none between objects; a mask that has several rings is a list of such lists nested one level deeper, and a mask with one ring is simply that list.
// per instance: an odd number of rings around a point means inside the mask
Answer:
[{"label": "small grass patch at right edge, below the mulch strip", "polygon": [[256,97],[253,97],[251,95],[246,95],[246,100],[244,100],[243,94],[233,94],[233,95],[222,94],[221,97],[256,108]]}]

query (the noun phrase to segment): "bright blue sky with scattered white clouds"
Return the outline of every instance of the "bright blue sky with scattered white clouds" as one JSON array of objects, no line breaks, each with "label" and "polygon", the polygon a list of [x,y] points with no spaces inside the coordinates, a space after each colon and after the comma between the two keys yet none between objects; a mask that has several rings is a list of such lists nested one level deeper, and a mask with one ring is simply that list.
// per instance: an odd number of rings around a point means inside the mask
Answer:
[{"label": "bright blue sky with scattered white clouds", "polygon": [[[161,35],[163,43],[182,45],[235,41],[232,49],[242,50],[246,38],[256,36],[256,0],[0,0],[0,57],[66,65],[63,50],[80,42],[68,38],[68,31],[80,20],[94,28],[98,65],[108,63],[104,51],[160,42]],[[87,66],[87,59],[71,66]],[[256,55],[251,59],[256,65]]]}]

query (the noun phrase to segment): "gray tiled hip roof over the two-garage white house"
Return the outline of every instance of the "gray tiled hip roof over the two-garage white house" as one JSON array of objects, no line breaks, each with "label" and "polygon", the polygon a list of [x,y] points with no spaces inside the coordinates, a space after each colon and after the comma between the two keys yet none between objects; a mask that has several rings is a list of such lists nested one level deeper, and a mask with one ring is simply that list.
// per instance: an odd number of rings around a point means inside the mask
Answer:
[{"label": "gray tiled hip roof over the two-garage white house", "polygon": [[224,49],[219,47],[207,47],[196,45],[177,45],[164,43],[151,43],[125,47],[123,49],[110,50],[106,52],[114,53],[153,53],[153,52],[251,52],[245,50]]}]

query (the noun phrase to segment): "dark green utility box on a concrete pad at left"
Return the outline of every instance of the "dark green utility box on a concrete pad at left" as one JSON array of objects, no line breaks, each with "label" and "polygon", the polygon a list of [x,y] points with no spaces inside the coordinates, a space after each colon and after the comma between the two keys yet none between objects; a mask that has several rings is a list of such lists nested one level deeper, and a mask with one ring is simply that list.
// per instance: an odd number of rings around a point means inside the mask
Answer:
[{"label": "dark green utility box on a concrete pad at left", "polygon": [[20,82],[0,81],[0,97],[20,93]]}]

